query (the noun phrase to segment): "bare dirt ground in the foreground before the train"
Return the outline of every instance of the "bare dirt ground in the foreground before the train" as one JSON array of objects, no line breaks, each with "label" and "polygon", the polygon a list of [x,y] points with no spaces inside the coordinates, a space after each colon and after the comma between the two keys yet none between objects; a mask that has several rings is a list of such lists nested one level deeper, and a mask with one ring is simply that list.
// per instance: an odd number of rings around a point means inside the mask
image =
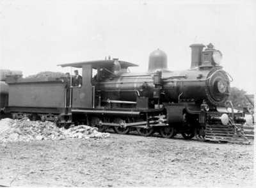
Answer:
[{"label": "bare dirt ground in the foreground before the train", "polygon": [[0,156],[7,186],[255,186],[253,145],[111,134],[0,143]]}]

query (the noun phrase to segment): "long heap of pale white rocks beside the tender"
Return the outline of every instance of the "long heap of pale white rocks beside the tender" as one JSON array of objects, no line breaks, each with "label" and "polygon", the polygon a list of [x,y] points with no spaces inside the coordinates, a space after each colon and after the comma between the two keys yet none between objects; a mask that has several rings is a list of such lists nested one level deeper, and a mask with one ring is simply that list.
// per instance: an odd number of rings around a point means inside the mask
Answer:
[{"label": "long heap of pale white rocks beside the tender", "polygon": [[58,128],[51,121],[0,120],[0,143],[8,141],[60,140],[106,138],[109,133],[98,132],[97,127],[78,125],[70,129]]}]

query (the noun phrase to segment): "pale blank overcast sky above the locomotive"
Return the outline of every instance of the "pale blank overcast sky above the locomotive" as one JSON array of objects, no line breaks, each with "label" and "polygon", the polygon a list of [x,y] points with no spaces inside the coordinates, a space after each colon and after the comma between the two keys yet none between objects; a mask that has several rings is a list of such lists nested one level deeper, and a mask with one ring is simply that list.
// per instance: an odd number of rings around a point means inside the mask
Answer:
[{"label": "pale blank overcast sky above the locomotive", "polygon": [[110,55],[145,71],[159,48],[170,70],[190,67],[191,43],[223,53],[232,86],[254,91],[256,1],[1,1],[1,68],[67,72],[61,63]]}]

